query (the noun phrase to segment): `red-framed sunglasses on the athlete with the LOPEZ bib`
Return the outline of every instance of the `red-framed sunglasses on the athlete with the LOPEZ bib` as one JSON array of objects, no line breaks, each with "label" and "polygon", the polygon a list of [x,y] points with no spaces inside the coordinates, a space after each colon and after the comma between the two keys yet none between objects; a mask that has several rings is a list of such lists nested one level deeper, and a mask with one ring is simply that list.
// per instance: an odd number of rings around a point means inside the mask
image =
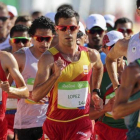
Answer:
[{"label": "red-framed sunglasses on the athlete with the LOPEZ bib", "polygon": [[71,32],[75,31],[76,29],[78,29],[78,26],[74,26],[74,25],[67,25],[67,26],[63,26],[63,25],[59,25],[56,26],[57,29],[59,29],[60,31],[65,32],[66,30],[70,30]]}]

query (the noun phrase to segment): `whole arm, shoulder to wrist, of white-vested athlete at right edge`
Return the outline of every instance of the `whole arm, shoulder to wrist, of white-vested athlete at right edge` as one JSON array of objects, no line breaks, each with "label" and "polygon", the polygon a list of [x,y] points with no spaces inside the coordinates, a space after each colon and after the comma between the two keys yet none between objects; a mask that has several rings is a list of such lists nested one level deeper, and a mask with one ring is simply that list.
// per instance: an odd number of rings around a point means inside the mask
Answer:
[{"label": "whole arm, shoulder to wrist, of white-vested athlete at right edge", "polygon": [[127,55],[128,40],[119,40],[115,46],[109,51],[106,57],[106,67],[109,77],[112,81],[113,88],[119,85],[118,75],[117,75],[117,59],[121,56]]}]

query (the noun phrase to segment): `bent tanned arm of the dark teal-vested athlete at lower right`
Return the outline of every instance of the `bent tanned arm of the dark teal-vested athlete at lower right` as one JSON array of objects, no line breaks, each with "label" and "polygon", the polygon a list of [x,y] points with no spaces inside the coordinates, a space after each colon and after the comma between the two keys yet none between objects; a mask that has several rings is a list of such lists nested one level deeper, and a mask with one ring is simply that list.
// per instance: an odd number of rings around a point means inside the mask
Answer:
[{"label": "bent tanned arm of the dark teal-vested athlete at lower right", "polygon": [[137,80],[135,72],[134,67],[128,66],[122,73],[121,86],[116,93],[113,107],[114,119],[122,118],[140,109],[140,99],[128,102],[129,97],[135,91],[134,86]]}]

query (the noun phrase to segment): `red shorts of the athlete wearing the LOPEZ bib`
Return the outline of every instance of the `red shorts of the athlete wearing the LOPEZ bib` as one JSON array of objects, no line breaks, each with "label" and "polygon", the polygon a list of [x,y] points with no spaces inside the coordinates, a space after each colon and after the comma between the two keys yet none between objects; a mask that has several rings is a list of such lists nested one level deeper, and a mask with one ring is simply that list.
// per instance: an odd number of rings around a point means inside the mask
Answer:
[{"label": "red shorts of the athlete wearing the LOPEZ bib", "polygon": [[84,117],[72,122],[46,120],[43,125],[44,140],[90,140],[92,122]]}]

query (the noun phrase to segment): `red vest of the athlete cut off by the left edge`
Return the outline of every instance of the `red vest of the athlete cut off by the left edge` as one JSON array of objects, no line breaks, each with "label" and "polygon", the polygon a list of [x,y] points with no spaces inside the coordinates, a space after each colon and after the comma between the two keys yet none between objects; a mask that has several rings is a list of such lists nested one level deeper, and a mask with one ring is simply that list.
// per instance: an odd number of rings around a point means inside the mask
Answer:
[{"label": "red vest of the athlete cut off by the left edge", "polygon": [[[7,81],[6,75],[0,63],[0,80]],[[7,94],[0,88],[0,119],[5,117]]]}]

